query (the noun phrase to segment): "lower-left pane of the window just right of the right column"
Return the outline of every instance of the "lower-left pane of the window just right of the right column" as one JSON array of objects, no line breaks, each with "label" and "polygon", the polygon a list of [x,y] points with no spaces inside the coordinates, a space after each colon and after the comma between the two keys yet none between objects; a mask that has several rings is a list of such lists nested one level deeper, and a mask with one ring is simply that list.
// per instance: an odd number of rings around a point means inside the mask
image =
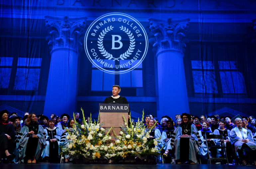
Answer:
[{"label": "lower-left pane of the window just right of the right column", "polygon": [[195,93],[205,93],[202,71],[192,71]]}]

